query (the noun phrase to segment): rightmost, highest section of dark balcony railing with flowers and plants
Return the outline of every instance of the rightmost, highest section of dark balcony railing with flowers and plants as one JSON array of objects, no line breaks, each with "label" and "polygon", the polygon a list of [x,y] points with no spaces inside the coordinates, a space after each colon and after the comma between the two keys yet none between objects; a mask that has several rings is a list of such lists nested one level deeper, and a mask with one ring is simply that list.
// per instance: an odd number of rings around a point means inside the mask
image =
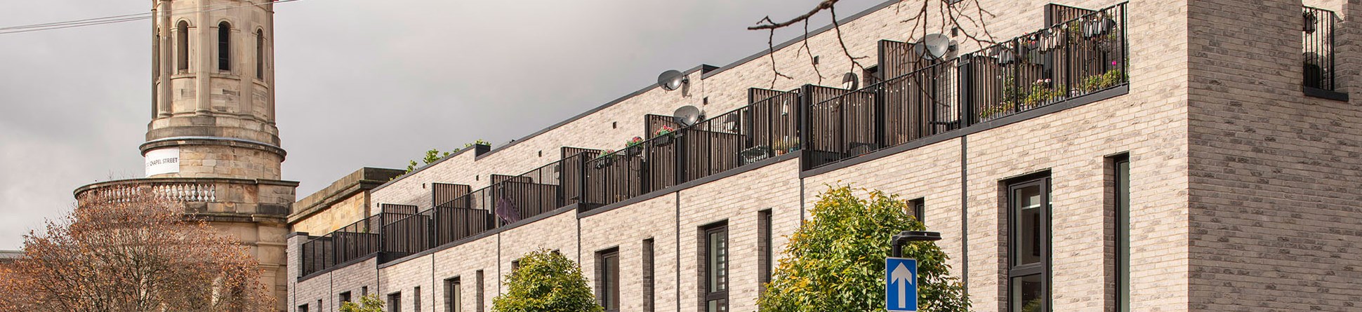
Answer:
[{"label": "rightmost, highest section of dark balcony railing with flowers and plants", "polygon": [[[1077,12],[1081,11],[1058,10],[1054,14]],[[906,74],[808,101],[806,169],[1128,82],[1125,4],[1087,11],[955,59],[904,60],[903,50],[911,46],[880,42],[881,61],[893,61],[883,64],[884,71],[907,68]]]}]

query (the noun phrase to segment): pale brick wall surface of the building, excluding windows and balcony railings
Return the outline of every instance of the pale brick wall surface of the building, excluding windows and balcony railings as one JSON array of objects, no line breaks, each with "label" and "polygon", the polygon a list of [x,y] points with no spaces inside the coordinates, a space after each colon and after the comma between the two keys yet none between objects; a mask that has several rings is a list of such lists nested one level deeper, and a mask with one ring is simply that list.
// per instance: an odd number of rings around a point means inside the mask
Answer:
[{"label": "pale brick wall surface of the building, excluding windows and balcony railings", "polygon": [[[981,1],[1000,38],[1043,27],[1046,1]],[[1113,1],[1066,1],[1103,8]],[[910,41],[895,3],[846,20],[847,48],[874,56],[880,40]],[[1355,44],[1362,1],[1148,0],[1128,4],[1129,84],[1086,95],[1024,119],[968,127],[925,143],[884,149],[806,170],[775,157],[699,181],[603,207],[568,206],[533,221],[394,259],[364,260],[300,277],[306,236],[289,240],[290,307],[330,302],[370,285],[375,293],[419,286],[426,311],[445,311],[444,279],[463,282],[462,311],[490,311],[511,262],[538,248],[579,260],[597,279],[597,252],[620,251],[621,311],[703,311],[700,229],[729,226],[730,311],[756,311],[760,292],[759,211],[771,210],[774,245],[806,221],[829,185],[922,198],[923,222],[941,232],[952,274],[967,283],[974,311],[1008,311],[1005,181],[1030,173],[1051,180],[1049,278],[1053,311],[1115,311],[1117,253],[1109,157],[1130,161],[1130,311],[1355,311],[1362,301],[1362,108],[1306,95],[1301,69],[1301,7],[1337,12],[1342,94],[1359,90]],[[824,84],[850,68],[832,31],[809,37]],[[430,183],[490,185],[557,161],[563,146],[620,149],[643,134],[643,114],[680,105],[718,114],[746,104],[748,89],[791,90],[819,83],[799,44],[771,59],[688,71],[691,89],[643,89],[564,124],[474,155],[460,153],[373,189],[372,202],[430,208]],[[978,49],[963,42],[962,52]],[[874,59],[868,59],[874,63]],[[859,72],[858,72],[859,75]],[[1357,98],[1358,95],[1351,95]],[[708,105],[700,102],[708,98]],[[612,127],[617,123],[617,128]],[[545,157],[539,157],[539,151]],[[377,211],[376,208],[373,211]],[[323,233],[312,233],[320,236]],[[652,241],[651,293],[644,240]],[[482,296],[474,277],[484,271]],[[346,285],[336,289],[332,285]],[[595,283],[591,283],[595,285]],[[651,298],[652,302],[646,302]],[[330,307],[330,304],[328,304]]]}]

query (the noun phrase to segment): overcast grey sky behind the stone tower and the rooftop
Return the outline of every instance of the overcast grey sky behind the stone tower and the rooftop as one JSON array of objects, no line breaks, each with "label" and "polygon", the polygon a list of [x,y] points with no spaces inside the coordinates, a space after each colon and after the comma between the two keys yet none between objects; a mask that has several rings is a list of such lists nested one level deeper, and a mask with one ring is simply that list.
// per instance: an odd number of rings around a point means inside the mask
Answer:
[{"label": "overcast grey sky behind the stone tower and the rooftop", "polygon": [[[765,48],[745,30],[819,0],[302,0],[275,7],[283,178],[298,198],[361,166],[496,144]],[[883,0],[843,0],[850,16]],[[147,12],[150,1],[0,3],[0,27]],[[814,27],[827,23],[817,19]],[[797,33],[778,34],[778,41]],[[142,177],[151,22],[0,34],[0,249],[76,187]]]}]

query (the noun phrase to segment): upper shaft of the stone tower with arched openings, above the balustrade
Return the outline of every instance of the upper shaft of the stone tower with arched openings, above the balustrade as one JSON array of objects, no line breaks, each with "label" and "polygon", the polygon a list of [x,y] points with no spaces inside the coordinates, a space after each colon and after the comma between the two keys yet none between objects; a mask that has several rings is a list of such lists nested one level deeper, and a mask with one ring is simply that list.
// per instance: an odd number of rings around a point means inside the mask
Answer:
[{"label": "upper shaft of the stone tower with arched openings, above the balustrade", "polygon": [[[274,4],[157,0],[148,177],[278,180]],[[165,165],[165,166],[154,166]]]}]

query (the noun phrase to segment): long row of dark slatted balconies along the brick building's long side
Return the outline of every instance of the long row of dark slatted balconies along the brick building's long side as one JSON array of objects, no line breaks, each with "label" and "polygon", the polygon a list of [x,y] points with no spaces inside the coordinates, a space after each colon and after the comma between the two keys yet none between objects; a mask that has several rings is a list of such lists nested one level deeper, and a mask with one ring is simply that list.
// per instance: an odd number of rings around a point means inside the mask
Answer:
[{"label": "long row of dark slatted balconies along the brick building's long side", "polygon": [[[746,106],[695,125],[643,116],[650,139],[618,151],[563,147],[560,161],[518,176],[493,174],[477,191],[433,184],[429,210],[384,206],[379,215],[304,243],[302,275],[366,255],[388,262],[459,244],[571,206],[580,213],[622,206],[748,165],[798,158],[801,170],[831,170],[872,159],[862,155],[1102,98],[1087,95],[1120,94],[1114,90],[1128,84],[1125,4],[1096,11],[1051,5],[1046,15],[1056,19],[1050,27],[957,57],[923,60],[913,44],[880,41],[887,79],[862,89],[750,89]],[[665,128],[673,131],[658,132]]]}]

